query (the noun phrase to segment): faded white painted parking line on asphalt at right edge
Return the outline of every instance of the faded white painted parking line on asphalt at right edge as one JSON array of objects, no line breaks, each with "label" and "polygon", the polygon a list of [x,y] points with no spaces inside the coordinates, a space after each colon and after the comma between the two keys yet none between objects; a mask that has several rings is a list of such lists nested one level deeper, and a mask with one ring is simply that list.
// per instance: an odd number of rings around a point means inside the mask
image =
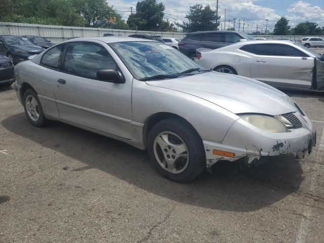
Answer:
[{"label": "faded white painted parking line on asphalt at right edge", "polygon": [[[320,137],[320,141],[319,141],[319,149],[317,151],[317,155],[316,155],[316,160],[315,160],[315,164],[314,164],[314,172],[312,174],[312,177],[310,178],[310,185],[309,185],[309,189],[311,193],[315,192],[317,183],[316,183],[316,173],[319,171],[319,163],[321,162],[321,153],[324,151],[324,127],[322,130],[322,135]],[[307,233],[309,231],[309,224],[310,224],[310,217],[312,215],[312,208],[310,206],[306,206],[305,211],[303,213],[308,219],[302,218],[302,221],[300,222],[300,226],[299,226],[299,230],[298,230],[298,235],[296,237],[296,243],[304,243],[306,238],[307,238]]]}]

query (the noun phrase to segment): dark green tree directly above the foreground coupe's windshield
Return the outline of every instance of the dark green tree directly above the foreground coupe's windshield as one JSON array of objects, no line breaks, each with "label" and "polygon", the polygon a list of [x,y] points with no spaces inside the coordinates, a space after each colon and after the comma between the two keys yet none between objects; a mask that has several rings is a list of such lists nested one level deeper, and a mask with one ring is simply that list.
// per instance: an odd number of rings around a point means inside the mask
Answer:
[{"label": "dark green tree directly above the foreground coupe's windshield", "polygon": [[165,6],[163,3],[156,3],[156,0],[144,0],[137,2],[136,13],[131,14],[127,24],[131,29],[138,30],[167,30],[170,23],[163,19]]}]

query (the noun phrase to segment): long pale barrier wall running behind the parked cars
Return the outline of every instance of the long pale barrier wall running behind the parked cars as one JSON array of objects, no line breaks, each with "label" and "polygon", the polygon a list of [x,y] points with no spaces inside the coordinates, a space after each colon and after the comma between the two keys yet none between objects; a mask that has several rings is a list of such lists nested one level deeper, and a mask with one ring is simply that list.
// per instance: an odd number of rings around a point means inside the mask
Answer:
[{"label": "long pale barrier wall running behind the parked cars", "polygon": [[[158,34],[162,37],[173,37],[182,39],[185,34],[181,32],[155,32],[155,31],[137,31],[138,33]],[[42,24],[24,24],[0,22],[0,35],[39,35],[46,37],[53,43],[59,43],[70,37],[95,37],[103,36],[104,33],[117,33],[124,36],[136,33],[135,30],[121,29],[104,29],[104,28],[87,28],[72,27],[59,25],[42,25]],[[302,35],[252,35],[254,37],[264,37],[267,39],[290,38],[295,41],[301,41]],[[324,36],[320,36],[324,37]]]}]

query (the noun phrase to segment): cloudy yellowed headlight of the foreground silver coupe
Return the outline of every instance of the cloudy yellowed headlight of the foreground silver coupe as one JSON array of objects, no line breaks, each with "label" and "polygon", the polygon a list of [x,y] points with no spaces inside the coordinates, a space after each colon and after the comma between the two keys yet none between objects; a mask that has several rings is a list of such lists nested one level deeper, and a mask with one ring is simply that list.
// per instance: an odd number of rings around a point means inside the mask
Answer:
[{"label": "cloudy yellowed headlight of the foreground silver coupe", "polygon": [[272,133],[289,133],[290,131],[278,119],[267,115],[240,115],[242,119],[253,126]]}]

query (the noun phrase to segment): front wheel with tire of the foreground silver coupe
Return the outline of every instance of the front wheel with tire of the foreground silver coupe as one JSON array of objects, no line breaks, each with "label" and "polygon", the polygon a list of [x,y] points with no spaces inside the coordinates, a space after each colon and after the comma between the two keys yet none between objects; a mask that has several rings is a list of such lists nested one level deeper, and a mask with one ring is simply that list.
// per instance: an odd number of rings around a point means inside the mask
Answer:
[{"label": "front wheel with tire of the foreground silver coupe", "polygon": [[182,119],[159,121],[148,135],[147,148],[155,168],[173,181],[190,181],[206,167],[203,141]]}]

